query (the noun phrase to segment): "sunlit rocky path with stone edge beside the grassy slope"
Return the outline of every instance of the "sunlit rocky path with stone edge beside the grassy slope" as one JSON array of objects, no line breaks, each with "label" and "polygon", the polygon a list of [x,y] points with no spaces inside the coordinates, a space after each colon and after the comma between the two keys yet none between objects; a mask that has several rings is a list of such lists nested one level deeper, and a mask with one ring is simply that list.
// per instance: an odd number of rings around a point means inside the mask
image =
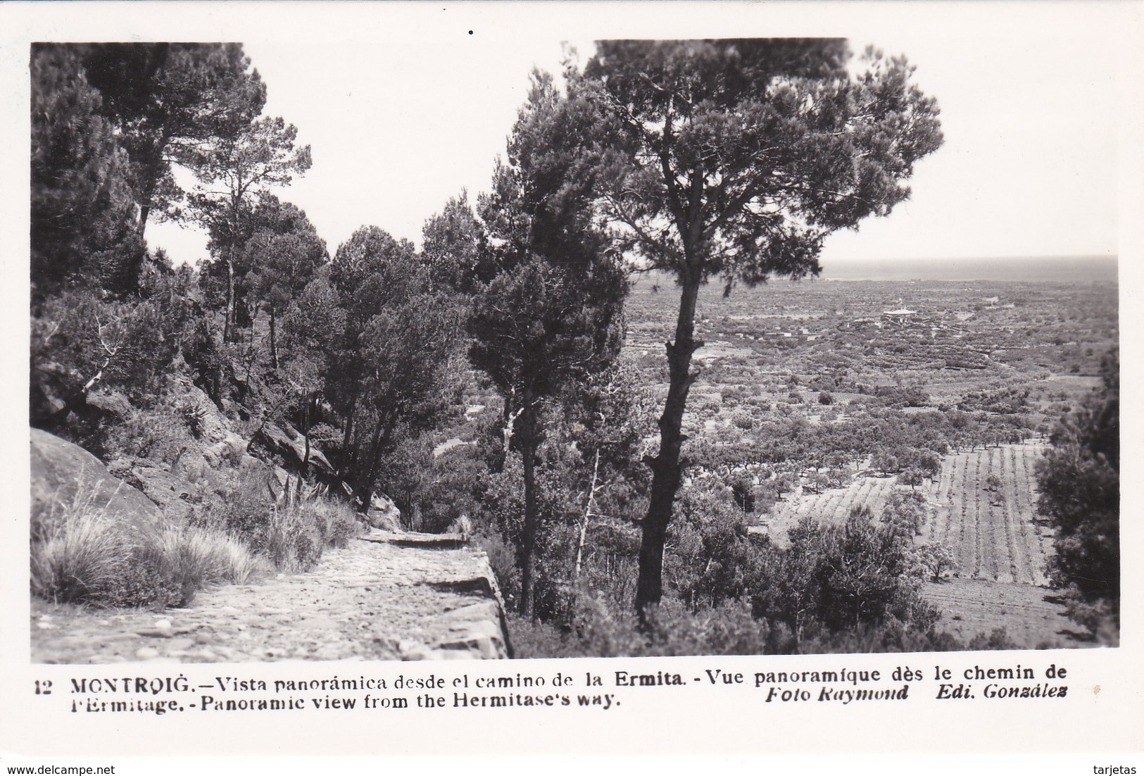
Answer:
[{"label": "sunlit rocky path with stone edge beside the grassy slope", "polygon": [[318,567],[202,591],[186,609],[32,601],[35,663],[501,658],[503,605],[485,556],[455,538],[371,530]]}]

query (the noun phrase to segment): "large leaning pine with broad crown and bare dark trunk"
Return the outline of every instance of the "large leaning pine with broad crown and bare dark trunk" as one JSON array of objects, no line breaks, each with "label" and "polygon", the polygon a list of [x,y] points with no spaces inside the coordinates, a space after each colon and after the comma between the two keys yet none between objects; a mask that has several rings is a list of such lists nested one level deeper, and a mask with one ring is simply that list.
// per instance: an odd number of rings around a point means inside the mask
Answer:
[{"label": "large leaning pine with broad crown and bare dark trunk", "polygon": [[819,271],[826,236],[905,200],[914,163],[942,143],[937,105],[903,58],[844,40],[602,41],[571,92],[602,116],[601,204],[643,266],[680,286],[660,448],[639,549],[636,608],[662,592],[664,541],[682,466],[701,285]]}]

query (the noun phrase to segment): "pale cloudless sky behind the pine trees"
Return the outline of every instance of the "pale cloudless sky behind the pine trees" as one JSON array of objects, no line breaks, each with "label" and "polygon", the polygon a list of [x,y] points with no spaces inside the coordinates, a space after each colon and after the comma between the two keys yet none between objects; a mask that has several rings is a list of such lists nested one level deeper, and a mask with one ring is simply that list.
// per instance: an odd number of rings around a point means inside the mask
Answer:
[{"label": "pale cloudless sky behind the pine trees", "polygon": [[[267,114],[309,143],[313,167],[279,197],[302,207],[331,253],[364,224],[420,243],[445,201],[488,187],[534,66],[558,71],[562,40],[505,46],[470,35],[316,42],[253,40]],[[945,144],[915,168],[889,217],[833,235],[825,266],[850,259],[1115,255],[1117,58],[1099,37],[943,37],[908,31],[852,40],[905,54],[937,97]],[[573,41],[581,61],[591,39]],[[176,259],[205,237],[149,227]]]}]

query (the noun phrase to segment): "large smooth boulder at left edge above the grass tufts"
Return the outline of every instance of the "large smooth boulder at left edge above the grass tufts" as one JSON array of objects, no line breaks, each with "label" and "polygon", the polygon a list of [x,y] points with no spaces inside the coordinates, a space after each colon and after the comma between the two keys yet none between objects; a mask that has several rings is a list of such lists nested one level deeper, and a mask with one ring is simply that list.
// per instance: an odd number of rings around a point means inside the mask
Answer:
[{"label": "large smooth boulder at left edge above the grass tufts", "polygon": [[70,513],[98,514],[132,531],[154,531],[165,521],[143,493],[108,473],[82,448],[31,429],[32,533],[49,535]]}]

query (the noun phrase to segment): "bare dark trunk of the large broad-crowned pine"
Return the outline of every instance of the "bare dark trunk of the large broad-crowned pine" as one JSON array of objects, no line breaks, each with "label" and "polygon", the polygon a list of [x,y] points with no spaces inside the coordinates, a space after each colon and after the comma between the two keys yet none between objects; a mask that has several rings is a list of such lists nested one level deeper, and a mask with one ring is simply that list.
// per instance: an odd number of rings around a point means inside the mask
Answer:
[{"label": "bare dark trunk of the large broad-crowned pine", "polygon": [[672,520],[675,492],[680,489],[680,449],[686,438],[682,433],[683,410],[691,385],[699,372],[691,371],[691,357],[702,346],[692,339],[696,330],[696,299],[699,274],[689,268],[681,276],[680,317],[675,325],[675,342],[667,343],[669,381],[664,414],[659,419],[659,454],[645,458],[652,470],[651,498],[643,521],[639,543],[639,577],[636,580],[636,612],[646,624],[648,608],[659,603],[664,592],[664,544]]}]

